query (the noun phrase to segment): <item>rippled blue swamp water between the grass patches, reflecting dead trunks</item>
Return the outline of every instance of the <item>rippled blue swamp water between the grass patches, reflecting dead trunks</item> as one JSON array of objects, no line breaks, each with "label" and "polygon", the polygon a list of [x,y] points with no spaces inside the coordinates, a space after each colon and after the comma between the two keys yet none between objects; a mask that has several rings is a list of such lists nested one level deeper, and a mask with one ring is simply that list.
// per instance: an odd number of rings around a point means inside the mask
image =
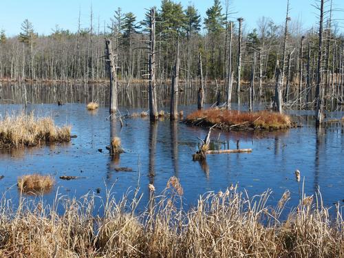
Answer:
[{"label": "rippled blue swamp water between the grass patches, reflecting dead trunks", "polygon": [[[87,98],[88,99],[88,98]],[[44,101],[42,101],[44,102]],[[47,101],[49,102],[49,101]],[[83,102],[80,100],[80,102]],[[3,102],[4,103],[4,102]],[[5,102],[6,103],[6,102]],[[192,104],[192,102],[191,102]],[[233,105],[236,108],[236,105]],[[22,105],[2,104],[0,115],[20,111]],[[182,106],[184,113],[195,105]],[[245,107],[241,107],[245,109]],[[142,108],[120,107],[122,114],[142,111]],[[147,185],[153,183],[159,193],[173,175],[180,178],[184,189],[184,203],[197,204],[197,197],[206,191],[226,191],[230,184],[239,184],[249,195],[272,189],[270,204],[276,204],[286,189],[291,192],[289,206],[297,205],[300,185],[294,171],[301,171],[305,178],[305,193],[314,194],[320,187],[325,204],[332,206],[344,200],[344,138],[343,124],[336,123],[316,131],[313,111],[288,111],[303,127],[272,133],[244,133],[215,131],[212,140],[219,139],[219,147],[252,148],[252,153],[208,155],[205,163],[193,162],[197,138],[204,138],[207,130],[188,127],[180,122],[160,120],[151,124],[142,118],[128,118],[124,126],[108,120],[108,108],[87,111],[84,103],[29,104],[27,111],[37,116],[53,116],[57,125],[72,125],[73,138],[69,144],[2,150],[0,153],[1,193],[12,200],[18,199],[17,178],[23,174],[52,174],[56,186],[45,195],[52,202],[56,191],[61,195],[80,197],[88,192],[105,196],[105,185],[114,184],[114,195],[120,198],[128,189],[139,183],[143,193],[142,206],[147,204]],[[343,112],[327,114],[327,118],[341,118]],[[105,149],[111,136],[118,136],[125,153],[111,158]],[[98,151],[102,149],[103,152]],[[115,170],[128,166],[132,172]],[[65,181],[61,175],[74,175],[77,180]]]}]

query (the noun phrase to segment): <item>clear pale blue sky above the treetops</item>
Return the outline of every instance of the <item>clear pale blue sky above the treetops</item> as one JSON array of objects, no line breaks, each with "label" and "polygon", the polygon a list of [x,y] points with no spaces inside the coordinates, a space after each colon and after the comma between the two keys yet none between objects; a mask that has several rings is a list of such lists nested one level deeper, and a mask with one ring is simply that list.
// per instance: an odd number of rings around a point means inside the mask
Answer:
[{"label": "clear pale blue sky above the treetops", "polygon": [[[179,2],[179,1],[177,1]],[[180,0],[183,6],[194,3],[205,16],[206,9],[213,5],[213,0]],[[304,28],[316,25],[314,0],[290,0],[292,20],[299,20]],[[118,7],[123,12],[133,12],[138,19],[143,19],[144,8],[160,7],[160,0],[0,0],[0,29],[8,36],[19,34],[21,23],[29,19],[39,34],[50,34],[58,24],[60,28],[75,32],[78,26],[78,12],[81,12],[83,28],[89,26],[89,10],[94,11],[94,25],[103,28],[109,22]],[[222,0],[224,5],[224,0]],[[344,9],[343,0],[333,0],[334,8]],[[286,0],[230,0],[230,11],[236,12],[232,19],[244,17],[246,28],[250,30],[257,24],[259,17],[270,17],[277,24],[282,24],[286,17]],[[340,18],[343,12],[334,12],[334,18]],[[339,23],[339,21],[338,21]],[[343,25],[339,23],[339,25]]]}]

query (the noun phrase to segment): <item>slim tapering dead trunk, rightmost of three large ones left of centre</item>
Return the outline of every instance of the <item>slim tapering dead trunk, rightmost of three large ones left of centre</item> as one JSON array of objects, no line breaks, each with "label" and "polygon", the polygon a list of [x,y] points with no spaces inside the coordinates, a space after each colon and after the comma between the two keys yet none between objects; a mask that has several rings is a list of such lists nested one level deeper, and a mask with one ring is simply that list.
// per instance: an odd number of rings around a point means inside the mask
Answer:
[{"label": "slim tapering dead trunk, rightmost of three large ones left of centre", "polygon": [[171,86],[171,104],[170,104],[170,119],[178,119],[178,80],[179,80],[179,67],[180,67],[180,58],[179,58],[179,39],[177,41],[177,54],[175,57],[175,66],[172,77],[172,86]]}]

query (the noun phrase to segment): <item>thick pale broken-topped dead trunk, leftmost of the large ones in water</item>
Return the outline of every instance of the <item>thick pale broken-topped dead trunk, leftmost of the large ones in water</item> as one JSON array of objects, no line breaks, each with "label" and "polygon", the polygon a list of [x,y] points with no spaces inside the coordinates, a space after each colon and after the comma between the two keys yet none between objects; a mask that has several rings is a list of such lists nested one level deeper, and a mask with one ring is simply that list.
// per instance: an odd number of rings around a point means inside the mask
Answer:
[{"label": "thick pale broken-topped dead trunk, leftmost of the large ones in water", "polygon": [[112,52],[111,40],[105,39],[105,47],[107,54],[107,62],[109,64],[110,77],[110,113],[117,111],[117,72],[116,72],[116,58]]}]

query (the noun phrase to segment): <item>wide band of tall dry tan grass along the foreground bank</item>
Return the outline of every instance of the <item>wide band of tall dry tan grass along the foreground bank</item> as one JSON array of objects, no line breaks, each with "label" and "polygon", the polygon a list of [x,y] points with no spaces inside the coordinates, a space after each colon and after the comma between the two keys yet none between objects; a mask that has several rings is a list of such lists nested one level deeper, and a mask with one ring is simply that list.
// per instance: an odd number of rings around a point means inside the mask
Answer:
[{"label": "wide band of tall dry tan grass along the foreground bank", "polygon": [[110,190],[102,217],[94,216],[94,195],[77,201],[56,194],[52,206],[21,200],[17,211],[2,200],[0,257],[344,257],[341,213],[330,219],[319,193],[314,200],[302,195],[285,221],[288,192],[272,207],[270,190],[248,197],[231,186],[202,195],[189,211],[182,194],[171,178],[161,195],[150,191],[146,211],[137,214],[138,191],[116,202]]}]

